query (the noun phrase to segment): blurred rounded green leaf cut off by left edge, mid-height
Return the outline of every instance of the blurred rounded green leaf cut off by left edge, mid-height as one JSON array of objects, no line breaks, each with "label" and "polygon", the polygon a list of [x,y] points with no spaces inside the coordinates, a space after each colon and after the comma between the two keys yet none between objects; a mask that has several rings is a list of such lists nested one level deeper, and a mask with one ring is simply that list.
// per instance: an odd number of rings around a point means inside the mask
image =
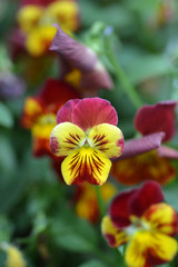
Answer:
[{"label": "blurred rounded green leaf cut off by left edge, mid-height", "polygon": [[0,126],[11,128],[13,126],[13,118],[7,106],[0,102]]}]

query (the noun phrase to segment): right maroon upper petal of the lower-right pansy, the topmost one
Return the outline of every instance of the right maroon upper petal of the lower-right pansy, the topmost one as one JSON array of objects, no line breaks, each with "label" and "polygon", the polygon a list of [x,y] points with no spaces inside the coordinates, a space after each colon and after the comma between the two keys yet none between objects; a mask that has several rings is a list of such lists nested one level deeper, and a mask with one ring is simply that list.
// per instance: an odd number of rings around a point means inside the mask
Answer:
[{"label": "right maroon upper petal of the lower-right pansy, the topmost one", "polygon": [[130,199],[130,214],[140,217],[151,205],[161,202],[164,194],[156,181],[145,181]]}]

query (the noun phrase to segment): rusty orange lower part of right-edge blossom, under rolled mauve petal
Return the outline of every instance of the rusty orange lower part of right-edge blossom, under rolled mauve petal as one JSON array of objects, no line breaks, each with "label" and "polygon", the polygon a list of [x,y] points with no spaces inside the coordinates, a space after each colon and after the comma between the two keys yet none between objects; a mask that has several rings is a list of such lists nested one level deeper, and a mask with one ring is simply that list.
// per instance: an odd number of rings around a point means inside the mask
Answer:
[{"label": "rusty orange lower part of right-edge blossom, under rolled mauve petal", "polygon": [[118,158],[112,164],[111,175],[123,185],[137,185],[148,179],[165,185],[175,178],[176,170],[168,159],[150,151],[123,160]]}]

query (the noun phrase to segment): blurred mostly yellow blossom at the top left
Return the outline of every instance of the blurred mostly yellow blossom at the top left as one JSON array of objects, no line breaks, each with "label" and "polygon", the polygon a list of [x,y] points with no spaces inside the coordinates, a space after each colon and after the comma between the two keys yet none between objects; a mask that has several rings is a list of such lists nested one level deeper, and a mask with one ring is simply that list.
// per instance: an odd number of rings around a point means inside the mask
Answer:
[{"label": "blurred mostly yellow blossom at the top left", "polygon": [[[49,2],[49,1],[48,1]],[[56,34],[52,23],[59,23],[67,31],[72,32],[79,28],[79,8],[77,2],[50,1],[49,4],[41,2],[23,4],[17,20],[21,31],[27,37],[26,48],[34,57],[48,52],[50,43]]]}]

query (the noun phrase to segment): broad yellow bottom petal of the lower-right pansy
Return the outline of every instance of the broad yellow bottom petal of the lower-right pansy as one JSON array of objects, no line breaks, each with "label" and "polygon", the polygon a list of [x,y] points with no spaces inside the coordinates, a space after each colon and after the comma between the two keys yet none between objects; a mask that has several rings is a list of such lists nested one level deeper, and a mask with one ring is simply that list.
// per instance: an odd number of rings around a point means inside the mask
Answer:
[{"label": "broad yellow bottom petal of the lower-right pansy", "polygon": [[[126,250],[128,267],[151,267],[172,260],[177,241],[159,233],[137,231]],[[135,265],[134,265],[135,263]]]}]

